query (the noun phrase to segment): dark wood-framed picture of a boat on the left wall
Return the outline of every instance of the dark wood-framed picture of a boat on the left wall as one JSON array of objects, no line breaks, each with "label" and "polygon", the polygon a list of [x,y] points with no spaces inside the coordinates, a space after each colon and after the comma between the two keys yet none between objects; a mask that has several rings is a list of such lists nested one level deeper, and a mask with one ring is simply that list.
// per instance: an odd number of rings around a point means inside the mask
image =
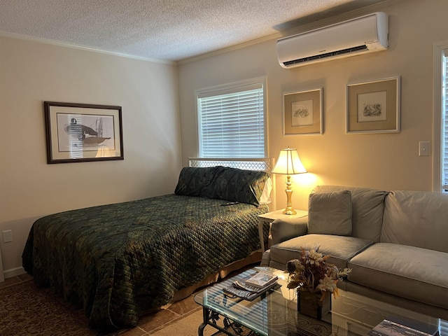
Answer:
[{"label": "dark wood-framed picture of a boat on the left wall", "polygon": [[121,106],[44,102],[47,162],[124,160]]}]

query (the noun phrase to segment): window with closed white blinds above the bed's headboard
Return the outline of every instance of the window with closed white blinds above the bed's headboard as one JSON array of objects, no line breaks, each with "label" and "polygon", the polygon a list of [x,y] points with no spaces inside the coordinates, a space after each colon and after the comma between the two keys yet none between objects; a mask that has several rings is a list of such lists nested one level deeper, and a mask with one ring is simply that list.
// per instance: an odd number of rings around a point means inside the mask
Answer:
[{"label": "window with closed white blinds above the bed's headboard", "polygon": [[265,79],[197,91],[200,158],[265,158]]}]

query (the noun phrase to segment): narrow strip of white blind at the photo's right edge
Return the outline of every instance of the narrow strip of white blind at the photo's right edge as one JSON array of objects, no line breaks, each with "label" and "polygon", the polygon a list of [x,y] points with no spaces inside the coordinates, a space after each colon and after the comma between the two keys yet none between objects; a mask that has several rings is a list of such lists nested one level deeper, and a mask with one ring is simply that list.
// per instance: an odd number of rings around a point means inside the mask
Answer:
[{"label": "narrow strip of white blind at the photo's right edge", "polygon": [[448,50],[444,50],[442,62],[442,192],[448,192]]}]

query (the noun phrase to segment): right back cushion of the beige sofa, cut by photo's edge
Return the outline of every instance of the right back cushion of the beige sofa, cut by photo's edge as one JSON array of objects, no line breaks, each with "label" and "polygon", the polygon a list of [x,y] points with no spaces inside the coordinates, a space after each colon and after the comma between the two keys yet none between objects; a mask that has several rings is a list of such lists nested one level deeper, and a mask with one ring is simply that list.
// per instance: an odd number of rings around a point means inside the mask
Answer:
[{"label": "right back cushion of the beige sofa, cut by photo's edge", "polygon": [[381,242],[448,252],[448,195],[398,190],[386,197]]}]

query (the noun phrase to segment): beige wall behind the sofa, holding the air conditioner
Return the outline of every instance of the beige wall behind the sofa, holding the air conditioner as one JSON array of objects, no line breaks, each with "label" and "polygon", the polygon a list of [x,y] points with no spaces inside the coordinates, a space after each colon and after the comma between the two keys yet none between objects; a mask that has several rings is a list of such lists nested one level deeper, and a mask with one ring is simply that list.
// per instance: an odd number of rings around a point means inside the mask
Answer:
[{"label": "beige wall behind the sofa, holding the air conditioner", "polygon": [[[197,155],[195,89],[267,76],[269,156],[295,147],[312,173],[294,176],[297,209],[307,209],[316,184],[431,190],[433,156],[419,157],[418,145],[433,142],[433,44],[448,40],[448,1],[406,0],[382,6],[370,10],[389,15],[386,51],[283,69],[272,39],[180,64],[183,162]],[[392,76],[401,76],[401,132],[346,134],[346,84]],[[323,135],[284,137],[282,94],[316,87],[323,87]],[[284,207],[283,177],[277,177],[276,186],[276,204]]]}]

